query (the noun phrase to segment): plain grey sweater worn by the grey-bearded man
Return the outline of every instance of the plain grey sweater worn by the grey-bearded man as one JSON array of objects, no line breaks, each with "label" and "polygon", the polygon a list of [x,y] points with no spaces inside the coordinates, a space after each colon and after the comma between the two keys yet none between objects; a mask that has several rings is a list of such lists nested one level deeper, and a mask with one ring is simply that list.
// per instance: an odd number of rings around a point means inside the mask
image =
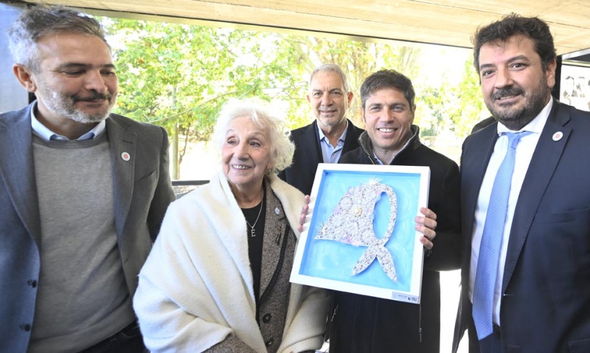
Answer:
[{"label": "plain grey sweater worn by the grey-bearded man", "polygon": [[78,352],[134,320],[117,251],[106,133],[33,137],[41,274],[29,352]]}]

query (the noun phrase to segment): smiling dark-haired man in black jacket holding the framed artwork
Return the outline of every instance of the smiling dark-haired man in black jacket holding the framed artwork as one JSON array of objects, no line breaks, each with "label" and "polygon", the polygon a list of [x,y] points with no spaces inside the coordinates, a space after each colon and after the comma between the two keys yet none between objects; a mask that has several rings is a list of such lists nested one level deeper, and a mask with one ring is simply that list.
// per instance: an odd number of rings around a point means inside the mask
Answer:
[{"label": "smiling dark-haired man in black jacket holding the framed artwork", "polygon": [[366,78],[361,86],[366,131],[359,137],[360,147],[343,155],[340,163],[430,167],[428,208],[436,213],[438,225],[434,249],[424,258],[421,304],[335,292],[330,352],[439,352],[437,271],[459,265],[459,169],[420,143],[420,129],[412,124],[414,97],[412,82],[397,71],[378,71]]}]

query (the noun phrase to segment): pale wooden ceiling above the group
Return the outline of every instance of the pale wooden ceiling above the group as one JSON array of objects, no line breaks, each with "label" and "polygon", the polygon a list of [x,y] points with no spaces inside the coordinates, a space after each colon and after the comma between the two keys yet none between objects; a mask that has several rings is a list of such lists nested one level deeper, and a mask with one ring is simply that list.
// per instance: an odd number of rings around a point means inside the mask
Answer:
[{"label": "pale wooden ceiling above the group", "polygon": [[[478,28],[512,11],[547,20],[558,54],[590,47],[590,8],[579,0],[30,0],[101,11],[194,18],[388,40],[471,47]],[[509,9],[509,10],[507,10]]]}]

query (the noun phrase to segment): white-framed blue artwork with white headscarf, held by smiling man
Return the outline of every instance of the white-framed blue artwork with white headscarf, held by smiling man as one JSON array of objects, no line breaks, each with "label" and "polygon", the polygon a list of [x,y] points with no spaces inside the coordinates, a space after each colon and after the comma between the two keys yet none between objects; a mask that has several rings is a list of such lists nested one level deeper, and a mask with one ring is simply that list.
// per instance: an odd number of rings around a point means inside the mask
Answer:
[{"label": "white-framed blue artwork with white headscarf, held by smiling man", "polygon": [[320,163],[291,282],[420,304],[429,167]]}]

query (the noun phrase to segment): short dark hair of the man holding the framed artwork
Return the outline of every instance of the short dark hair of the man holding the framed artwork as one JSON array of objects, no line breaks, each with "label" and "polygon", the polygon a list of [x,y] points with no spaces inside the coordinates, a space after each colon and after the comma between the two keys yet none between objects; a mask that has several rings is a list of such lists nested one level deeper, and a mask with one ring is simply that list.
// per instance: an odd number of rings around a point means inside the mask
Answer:
[{"label": "short dark hair of the man holding the framed artwork", "polygon": [[365,108],[366,100],[369,96],[374,94],[378,90],[383,88],[397,88],[403,92],[403,95],[408,103],[410,103],[410,109],[414,111],[415,104],[414,98],[416,93],[414,92],[414,86],[410,78],[407,78],[402,73],[395,70],[380,70],[365,78],[361,85],[361,106]]}]

